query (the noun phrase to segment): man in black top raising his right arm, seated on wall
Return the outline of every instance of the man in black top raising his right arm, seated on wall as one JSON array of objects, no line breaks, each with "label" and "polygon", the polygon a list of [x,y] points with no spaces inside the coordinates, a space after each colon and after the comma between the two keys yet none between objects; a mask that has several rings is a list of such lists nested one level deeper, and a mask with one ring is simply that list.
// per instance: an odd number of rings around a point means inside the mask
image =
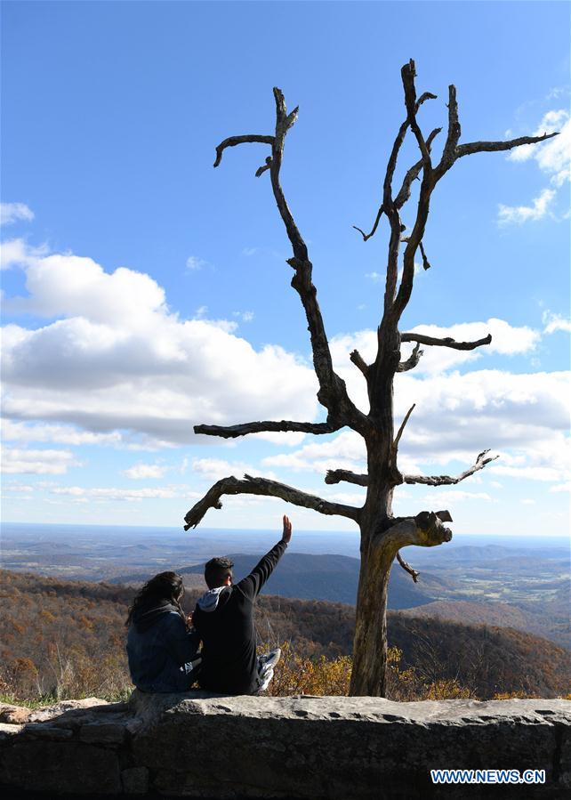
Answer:
[{"label": "man in black top raising his right arm, seated on wall", "polygon": [[197,602],[193,624],[202,640],[202,689],[221,694],[257,694],[267,688],[280,651],[256,655],[253,601],[286,552],[292,523],[284,516],[284,532],[277,545],[264,555],[239,583],[232,583],[233,563],[213,558],[205,564],[208,591]]}]

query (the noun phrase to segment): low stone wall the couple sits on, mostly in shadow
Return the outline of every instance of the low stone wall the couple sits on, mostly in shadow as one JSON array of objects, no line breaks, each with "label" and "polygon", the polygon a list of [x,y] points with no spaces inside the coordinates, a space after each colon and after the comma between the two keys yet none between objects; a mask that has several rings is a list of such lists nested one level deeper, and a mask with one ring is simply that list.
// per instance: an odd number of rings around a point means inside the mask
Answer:
[{"label": "low stone wall the couple sits on, mostly in shadow", "polygon": [[[567,700],[220,697],[0,704],[7,796],[571,796]],[[434,786],[430,769],[545,770],[544,785]]]}]

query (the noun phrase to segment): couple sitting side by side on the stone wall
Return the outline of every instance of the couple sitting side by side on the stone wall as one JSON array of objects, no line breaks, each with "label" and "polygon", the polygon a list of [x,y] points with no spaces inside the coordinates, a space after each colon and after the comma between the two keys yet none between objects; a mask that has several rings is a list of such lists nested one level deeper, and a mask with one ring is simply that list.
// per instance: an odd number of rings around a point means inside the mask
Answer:
[{"label": "couple sitting side by side on the stone wall", "polygon": [[[182,578],[161,572],[151,578],[129,609],[127,655],[135,686],[141,691],[201,689],[220,694],[257,694],[268,688],[280,651],[256,654],[253,601],[286,552],[292,523],[239,583],[232,583],[233,564],[213,558],[205,564],[208,591],[188,617],[181,609]],[[202,642],[202,648],[198,647]]]}]

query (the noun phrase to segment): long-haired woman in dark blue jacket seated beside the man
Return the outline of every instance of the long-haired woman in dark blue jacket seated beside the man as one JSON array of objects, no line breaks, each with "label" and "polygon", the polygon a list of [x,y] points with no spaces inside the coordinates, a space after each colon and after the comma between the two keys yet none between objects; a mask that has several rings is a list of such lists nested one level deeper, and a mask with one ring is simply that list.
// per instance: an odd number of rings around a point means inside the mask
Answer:
[{"label": "long-haired woman in dark blue jacket seated beside the man", "polygon": [[187,691],[195,681],[200,639],[181,609],[183,594],[180,575],[160,572],[129,609],[129,671],[141,691]]}]

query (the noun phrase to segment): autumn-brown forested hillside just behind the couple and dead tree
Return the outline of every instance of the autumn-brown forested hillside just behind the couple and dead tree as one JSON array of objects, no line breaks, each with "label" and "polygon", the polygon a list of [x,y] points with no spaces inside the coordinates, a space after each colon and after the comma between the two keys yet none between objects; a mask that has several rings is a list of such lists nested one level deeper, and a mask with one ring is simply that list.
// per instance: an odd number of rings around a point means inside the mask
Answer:
[{"label": "autumn-brown forested hillside just behind the couple and dead tree", "polygon": [[[132,587],[5,570],[0,578],[1,693],[20,699],[47,694],[117,696],[131,688],[125,617]],[[187,610],[192,610],[198,594],[187,594]],[[323,666],[348,656],[353,625],[354,609],[342,603],[272,596],[258,600],[260,640],[269,646],[289,642],[290,671],[316,665],[320,657]],[[511,692],[555,697],[570,691],[568,651],[509,628],[393,611],[389,643],[400,652],[398,660],[393,650],[400,683],[391,684],[400,699],[426,696],[426,687],[438,682],[482,699]],[[350,660],[339,659],[335,668],[347,670]],[[294,683],[290,680],[288,685]]]}]

